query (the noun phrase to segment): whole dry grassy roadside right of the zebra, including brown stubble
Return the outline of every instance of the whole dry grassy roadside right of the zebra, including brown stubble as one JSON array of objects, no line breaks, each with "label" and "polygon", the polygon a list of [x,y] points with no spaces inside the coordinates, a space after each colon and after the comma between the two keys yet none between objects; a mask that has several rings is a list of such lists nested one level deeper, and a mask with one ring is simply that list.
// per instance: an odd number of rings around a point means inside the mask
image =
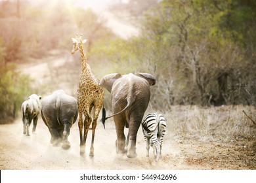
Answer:
[{"label": "whole dry grassy roadside right of the zebra, including brown stubble", "polygon": [[256,169],[256,109],[248,106],[173,106],[165,114],[169,135],[188,165],[207,169]]}]

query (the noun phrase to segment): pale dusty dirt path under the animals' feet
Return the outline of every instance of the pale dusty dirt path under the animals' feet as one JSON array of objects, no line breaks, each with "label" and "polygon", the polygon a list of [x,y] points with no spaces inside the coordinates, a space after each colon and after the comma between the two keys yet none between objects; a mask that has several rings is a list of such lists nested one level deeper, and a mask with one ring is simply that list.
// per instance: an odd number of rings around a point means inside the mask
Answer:
[{"label": "pale dusty dirt path under the animals' feet", "polygon": [[[32,130],[32,127],[31,127]],[[71,148],[62,150],[50,144],[50,133],[40,119],[36,134],[23,135],[22,122],[0,125],[0,169],[182,169],[182,158],[177,162],[179,150],[176,142],[167,135],[163,146],[163,158],[156,163],[152,149],[150,158],[146,158],[146,144],[142,132],[138,133],[137,158],[127,158],[116,154],[116,130],[112,121],[96,127],[95,157],[89,156],[91,131],[84,156],[79,155],[79,129],[77,123],[72,126],[69,141]]]}]

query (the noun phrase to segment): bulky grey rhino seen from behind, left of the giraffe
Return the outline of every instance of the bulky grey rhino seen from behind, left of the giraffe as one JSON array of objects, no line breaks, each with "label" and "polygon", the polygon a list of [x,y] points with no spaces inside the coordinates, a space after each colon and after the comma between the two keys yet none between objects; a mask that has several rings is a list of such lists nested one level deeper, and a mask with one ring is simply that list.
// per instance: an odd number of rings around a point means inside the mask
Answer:
[{"label": "bulky grey rhino seen from behind, left of the giraffe", "polygon": [[67,95],[63,90],[57,90],[52,95],[43,97],[41,101],[41,116],[51,133],[51,143],[62,148],[70,148],[68,136],[70,128],[78,115],[77,100]]}]

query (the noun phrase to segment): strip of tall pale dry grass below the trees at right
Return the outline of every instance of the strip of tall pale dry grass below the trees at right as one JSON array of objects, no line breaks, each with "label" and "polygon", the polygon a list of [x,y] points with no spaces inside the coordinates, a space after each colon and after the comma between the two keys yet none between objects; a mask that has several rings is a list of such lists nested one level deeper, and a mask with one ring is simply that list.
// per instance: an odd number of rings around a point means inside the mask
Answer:
[{"label": "strip of tall pale dry grass below the trees at right", "polygon": [[242,110],[256,120],[256,108],[240,105],[211,108],[173,106],[171,112],[165,114],[165,118],[171,124],[171,133],[175,135],[189,135],[202,141],[253,138],[256,126]]}]

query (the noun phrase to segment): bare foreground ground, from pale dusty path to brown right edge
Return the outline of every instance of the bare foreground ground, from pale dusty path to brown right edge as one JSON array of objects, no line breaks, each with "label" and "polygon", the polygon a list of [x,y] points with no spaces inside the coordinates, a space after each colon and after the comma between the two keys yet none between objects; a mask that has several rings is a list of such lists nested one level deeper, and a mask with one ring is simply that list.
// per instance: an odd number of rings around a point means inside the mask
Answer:
[{"label": "bare foreground ground, from pale dusty path to brown right edge", "polygon": [[[85,155],[79,154],[77,122],[70,132],[71,147],[63,150],[61,147],[52,146],[50,133],[41,119],[37,124],[36,134],[31,133],[29,137],[23,135],[22,122],[17,120],[14,124],[0,125],[0,169],[255,169],[255,152],[244,147],[248,141],[237,141],[233,144],[197,141],[170,134],[172,122],[168,125],[163,141],[162,159],[156,163],[152,148],[150,157],[146,157],[146,144],[141,129],[137,136],[137,158],[116,154],[116,130],[112,120],[106,122],[106,129],[100,123],[97,125],[93,158],[89,156],[91,131]],[[255,144],[250,146],[255,149]],[[248,165],[249,161],[252,162],[251,165]]]}]

